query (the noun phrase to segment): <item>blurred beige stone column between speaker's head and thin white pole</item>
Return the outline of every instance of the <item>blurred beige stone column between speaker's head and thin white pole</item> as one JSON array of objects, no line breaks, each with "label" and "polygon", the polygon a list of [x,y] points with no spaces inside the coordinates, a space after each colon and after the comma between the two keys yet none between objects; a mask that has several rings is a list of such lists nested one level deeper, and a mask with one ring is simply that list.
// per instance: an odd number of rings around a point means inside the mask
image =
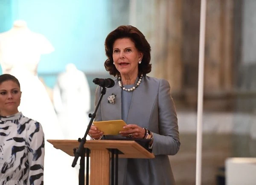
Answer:
[{"label": "blurred beige stone column between speaker's head and thin white pole", "polygon": [[169,81],[173,92],[183,86],[182,46],[183,0],[156,0],[154,76]]}]

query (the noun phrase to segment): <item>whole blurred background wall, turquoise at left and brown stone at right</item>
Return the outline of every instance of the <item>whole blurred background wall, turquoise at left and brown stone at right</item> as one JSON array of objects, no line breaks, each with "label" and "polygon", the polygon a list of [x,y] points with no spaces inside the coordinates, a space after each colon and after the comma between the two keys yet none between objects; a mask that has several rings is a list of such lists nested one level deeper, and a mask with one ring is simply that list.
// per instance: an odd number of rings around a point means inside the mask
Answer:
[{"label": "whole blurred background wall, turquoise at left and brown stone at right", "polygon": [[[202,184],[220,184],[227,157],[256,157],[256,1],[208,0]],[[152,49],[150,76],[165,78],[177,107],[181,148],[170,157],[177,185],[195,184],[200,0],[0,0],[0,31],[22,19],[55,51],[38,75],[51,89],[67,63],[87,77],[109,77],[104,41],[131,24]]]}]

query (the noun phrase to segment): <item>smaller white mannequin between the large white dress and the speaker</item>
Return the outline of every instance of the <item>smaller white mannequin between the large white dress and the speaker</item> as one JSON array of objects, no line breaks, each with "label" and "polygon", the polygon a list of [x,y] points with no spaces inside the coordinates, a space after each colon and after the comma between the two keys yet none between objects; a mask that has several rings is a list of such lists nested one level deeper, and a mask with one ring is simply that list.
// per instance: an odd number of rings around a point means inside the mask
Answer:
[{"label": "smaller white mannequin between the large white dress and the speaker", "polygon": [[87,78],[73,63],[58,76],[53,88],[53,104],[65,139],[83,137],[89,123],[90,88]]}]

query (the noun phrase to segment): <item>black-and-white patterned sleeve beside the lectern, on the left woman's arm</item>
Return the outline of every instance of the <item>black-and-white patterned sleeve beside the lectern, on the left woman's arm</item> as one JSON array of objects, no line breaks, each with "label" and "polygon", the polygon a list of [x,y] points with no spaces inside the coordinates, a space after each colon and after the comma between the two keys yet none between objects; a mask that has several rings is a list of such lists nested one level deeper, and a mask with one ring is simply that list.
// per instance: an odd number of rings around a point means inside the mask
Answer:
[{"label": "black-and-white patterned sleeve beside the lectern, on the left woman's arm", "polygon": [[39,122],[31,122],[27,132],[28,185],[44,184],[44,131]]}]

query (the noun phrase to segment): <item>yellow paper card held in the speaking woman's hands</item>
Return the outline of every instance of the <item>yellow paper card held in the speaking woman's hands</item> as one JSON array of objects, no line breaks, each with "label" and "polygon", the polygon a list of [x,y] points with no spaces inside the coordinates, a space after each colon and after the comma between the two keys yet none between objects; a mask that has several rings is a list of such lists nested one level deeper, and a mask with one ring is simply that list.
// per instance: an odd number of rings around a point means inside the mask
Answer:
[{"label": "yellow paper card held in the speaking woman's hands", "polygon": [[110,120],[110,121],[95,121],[93,122],[104,135],[118,135],[119,131],[123,130],[126,125],[124,120]]}]

